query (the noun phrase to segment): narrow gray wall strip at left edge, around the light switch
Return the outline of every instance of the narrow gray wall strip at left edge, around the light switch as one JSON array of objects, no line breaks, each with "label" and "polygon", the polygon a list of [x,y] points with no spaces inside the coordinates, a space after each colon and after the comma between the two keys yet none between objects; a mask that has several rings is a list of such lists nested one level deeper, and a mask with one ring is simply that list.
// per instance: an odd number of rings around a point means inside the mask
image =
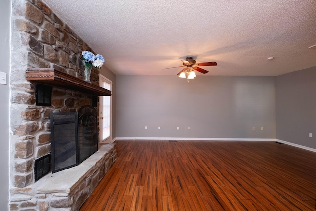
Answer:
[{"label": "narrow gray wall strip at left edge, around the light switch", "polygon": [[[1,72],[10,73],[10,15],[11,1],[3,0],[0,6],[0,58]],[[0,210],[9,210],[9,83],[0,84]]]}]

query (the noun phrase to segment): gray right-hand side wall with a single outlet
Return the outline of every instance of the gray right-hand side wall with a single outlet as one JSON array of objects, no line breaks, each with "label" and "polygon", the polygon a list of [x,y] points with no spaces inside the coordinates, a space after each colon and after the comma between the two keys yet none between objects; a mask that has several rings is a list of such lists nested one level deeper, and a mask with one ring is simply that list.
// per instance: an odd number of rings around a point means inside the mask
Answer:
[{"label": "gray right-hand side wall with a single outlet", "polygon": [[276,129],[277,139],[316,149],[316,66],[276,77]]}]

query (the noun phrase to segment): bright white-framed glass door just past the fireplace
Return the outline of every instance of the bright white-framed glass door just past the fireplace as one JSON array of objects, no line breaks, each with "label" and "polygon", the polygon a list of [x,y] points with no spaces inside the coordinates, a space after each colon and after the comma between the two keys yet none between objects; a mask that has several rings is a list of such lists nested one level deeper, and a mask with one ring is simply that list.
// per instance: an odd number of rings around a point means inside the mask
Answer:
[{"label": "bright white-framed glass door just past the fireplace", "polygon": [[[112,90],[112,82],[100,74],[99,84],[102,88]],[[111,142],[112,96],[100,96],[100,142]]]}]

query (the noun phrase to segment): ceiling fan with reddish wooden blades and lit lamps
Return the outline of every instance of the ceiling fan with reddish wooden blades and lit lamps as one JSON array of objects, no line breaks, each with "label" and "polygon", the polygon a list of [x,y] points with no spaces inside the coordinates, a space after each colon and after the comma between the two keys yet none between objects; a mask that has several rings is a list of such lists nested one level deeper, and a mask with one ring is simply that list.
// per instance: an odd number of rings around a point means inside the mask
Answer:
[{"label": "ceiling fan with reddish wooden blades and lit lamps", "polygon": [[[182,60],[183,66],[179,67],[185,67],[183,68],[177,75],[180,75],[180,78],[187,78],[187,79],[194,79],[196,77],[196,74],[194,70],[201,72],[201,73],[208,73],[207,70],[204,70],[198,66],[216,66],[216,62],[202,62],[202,63],[196,63],[196,60],[194,60],[192,57],[187,57],[186,60]],[[170,68],[176,68],[176,67],[169,67],[164,69],[170,69]],[[163,69],[163,70],[164,70]]]}]

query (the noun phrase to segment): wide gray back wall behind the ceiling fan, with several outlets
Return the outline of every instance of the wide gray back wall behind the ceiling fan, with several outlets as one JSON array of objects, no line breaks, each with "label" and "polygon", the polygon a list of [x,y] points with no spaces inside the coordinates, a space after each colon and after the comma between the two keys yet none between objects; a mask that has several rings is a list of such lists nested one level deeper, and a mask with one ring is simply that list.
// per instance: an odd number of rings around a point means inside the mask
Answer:
[{"label": "wide gray back wall behind the ceiling fan, with several outlets", "polygon": [[117,138],[276,138],[275,77],[118,75],[116,84]]}]

